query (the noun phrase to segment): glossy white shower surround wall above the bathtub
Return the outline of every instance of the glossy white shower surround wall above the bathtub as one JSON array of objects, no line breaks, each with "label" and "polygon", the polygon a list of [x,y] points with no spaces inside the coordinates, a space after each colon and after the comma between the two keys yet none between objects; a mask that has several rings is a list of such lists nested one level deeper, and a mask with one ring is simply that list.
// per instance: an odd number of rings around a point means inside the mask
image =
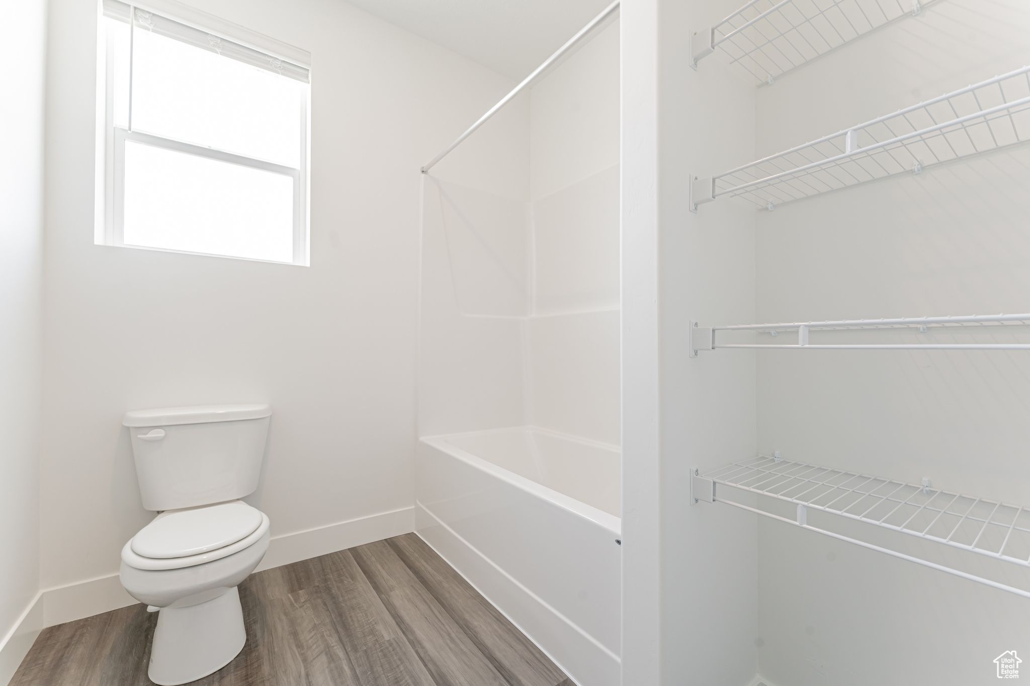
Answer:
[{"label": "glossy white shower surround wall above the bathtub", "polygon": [[423,180],[419,435],[531,425],[617,445],[618,23],[509,108],[524,183],[443,164]]}]

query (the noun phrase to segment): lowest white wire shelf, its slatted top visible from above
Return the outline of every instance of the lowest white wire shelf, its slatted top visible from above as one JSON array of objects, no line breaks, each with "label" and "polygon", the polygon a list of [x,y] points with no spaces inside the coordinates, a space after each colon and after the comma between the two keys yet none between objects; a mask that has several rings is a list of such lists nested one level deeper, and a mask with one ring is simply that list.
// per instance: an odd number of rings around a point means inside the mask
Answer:
[{"label": "lowest white wire shelf, its slatted top visible from above", "polygon": [[[796,505],[791,519],[721,497],[720,486]],[[1030,567],[1030,510],[925,484],[758,456],[707,474],[694,470],[691,502],[726,503],[838,540],[1024,598],[1030,591],[808,523],[808,510],[907,534],[1019,567]]]}]

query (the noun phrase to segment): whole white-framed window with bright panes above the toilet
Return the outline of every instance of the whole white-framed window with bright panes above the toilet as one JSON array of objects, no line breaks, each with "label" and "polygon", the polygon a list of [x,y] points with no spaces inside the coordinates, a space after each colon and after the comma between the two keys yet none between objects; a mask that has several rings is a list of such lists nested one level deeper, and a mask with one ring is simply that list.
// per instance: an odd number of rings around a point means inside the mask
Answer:
[{"label": "whole white-framed window with bright panes above the toilet", "polygon": [[307,264],[307,67],[180,19],[103,0],[96,242]]}]

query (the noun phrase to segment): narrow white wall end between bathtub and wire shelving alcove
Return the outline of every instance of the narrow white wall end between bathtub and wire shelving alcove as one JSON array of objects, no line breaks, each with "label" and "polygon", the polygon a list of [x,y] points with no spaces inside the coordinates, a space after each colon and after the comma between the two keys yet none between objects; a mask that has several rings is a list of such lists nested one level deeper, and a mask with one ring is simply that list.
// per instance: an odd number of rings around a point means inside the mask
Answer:
[{"label": "narrow white wall end between bathtub and wire shelving alcove", "polygon": [[619,6],[623,686],[661,674],[658,4]]}]

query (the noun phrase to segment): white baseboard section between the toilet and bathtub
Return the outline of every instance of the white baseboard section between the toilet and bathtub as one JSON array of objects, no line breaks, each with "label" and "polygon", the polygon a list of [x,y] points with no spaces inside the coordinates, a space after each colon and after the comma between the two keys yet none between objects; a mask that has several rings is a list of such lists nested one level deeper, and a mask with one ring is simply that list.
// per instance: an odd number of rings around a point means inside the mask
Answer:
[{"label": "white baseboard section between the toilet and bathtub", "polygon": [[335,525],[276,536],[255,572],[310,559],[415,531],[415,508],[370,514]]}]

